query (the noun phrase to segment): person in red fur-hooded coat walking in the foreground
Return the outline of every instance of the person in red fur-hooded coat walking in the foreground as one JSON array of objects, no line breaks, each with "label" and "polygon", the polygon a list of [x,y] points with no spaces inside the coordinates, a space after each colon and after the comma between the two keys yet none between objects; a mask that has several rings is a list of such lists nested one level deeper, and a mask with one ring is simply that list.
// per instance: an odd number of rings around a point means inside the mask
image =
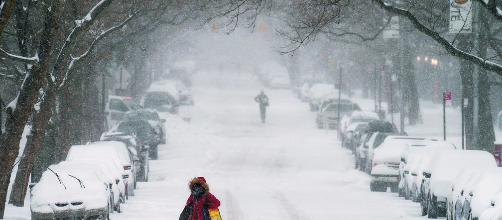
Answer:
[{"label": "person in red fur-hooded coat walking in the foreground", "polygon": [[192,193],[190,194],[190,197],[188,197],[187,205],[192,204],[193,207],[190,219],[208,219],[209,216],[204,218],[204,209],[216,208],[220,206],[220,201],[209,192],[209,186],[207,185],[204,177],[193,178],[190,180],[188,187]]}]

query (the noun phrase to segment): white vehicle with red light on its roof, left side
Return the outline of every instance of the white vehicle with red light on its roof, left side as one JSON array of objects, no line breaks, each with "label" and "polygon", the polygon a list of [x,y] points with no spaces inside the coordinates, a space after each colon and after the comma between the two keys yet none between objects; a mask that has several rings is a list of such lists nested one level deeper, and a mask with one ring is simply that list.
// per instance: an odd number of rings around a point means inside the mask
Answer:
[{"label": "white vehicle with red light on its roof, left side", "polygon": [[142,106],[136,103],[131,96],[108,95],[105,104],[106,122],[108,128],[116,125],[127,112],[137,111]]}]

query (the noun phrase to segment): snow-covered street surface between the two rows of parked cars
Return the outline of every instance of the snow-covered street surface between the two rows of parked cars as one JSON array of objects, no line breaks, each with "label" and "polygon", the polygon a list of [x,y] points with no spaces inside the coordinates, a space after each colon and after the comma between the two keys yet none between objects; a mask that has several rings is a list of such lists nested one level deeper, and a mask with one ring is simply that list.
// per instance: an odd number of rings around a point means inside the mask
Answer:
[{"label": "snow-covered street surface between the two rows of parked cars", "polygon": [[[163,115],[169,143],[151,161],[150,182],[112,219],[177,219],[188,181],[204,176],[221,200],[223,219],[416,219],[418,203],[369,191],[335,131],[290,90],[266,89],[267,123],[253,100],[263,86],[251,75],[201,72],[186,124]],[[364,103],[361,103],[364,108]],[[371,106],[372,107],[372,106]]]}]

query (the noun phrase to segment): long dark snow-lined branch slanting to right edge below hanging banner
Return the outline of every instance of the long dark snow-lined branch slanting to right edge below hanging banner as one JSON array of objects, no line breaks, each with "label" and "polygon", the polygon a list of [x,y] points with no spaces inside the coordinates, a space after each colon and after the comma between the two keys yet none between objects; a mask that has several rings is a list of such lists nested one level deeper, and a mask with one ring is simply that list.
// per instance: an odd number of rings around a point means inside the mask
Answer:
[{"label": "long dark snow-lined branch slanting to right edge below hanging banner", "polygon": [[440,44],[446,52],[448,52],[450,55],[458,57],[460,59],[472,62],[479,67],[486,69],[488,71],[493,71],[496,74],[502,76],[502,66],[499,64],[496,64],[494,62],[487,61],[485,59],[482,59],[481,57],[478,57],[476,55],[473,55],[471,53],[467,53],[465,51],[459,50],[455,46],[453,46],[448,40],[446,40],[444,37],[442,37],[438,32],[427,28],[425,25],[420,23],[420,21],[417,19],[415,15],[410,13],[408,10],[405,9],[400,9],[397,7],[394,7],[390,4],[385,3],[383,0],[372,0],[374,3],[378,4],[382,9],[385,11],[401,16],[403,18],[408,19],[413,26],[419,30],[420,32],[426,34],[427,36],[431,37],[434,41],[436,41],[438,44]]}]

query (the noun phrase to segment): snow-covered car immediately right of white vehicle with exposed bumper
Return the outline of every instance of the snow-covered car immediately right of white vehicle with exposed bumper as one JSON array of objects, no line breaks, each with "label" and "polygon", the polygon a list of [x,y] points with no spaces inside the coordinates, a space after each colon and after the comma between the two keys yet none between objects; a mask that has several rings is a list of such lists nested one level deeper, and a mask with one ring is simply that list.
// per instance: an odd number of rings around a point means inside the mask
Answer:
[{"label": "snow-covered car immediately right of white vehicle with exposed bumper", "polygon": [[439,140],[427,140],[427,141],[410,141],[406,143],[406,147],[401,153],[401,162],[399,163],[399,196],[405,196],[405,193],[409,195],[409,191],[405,190],[407,186],[407,179],[404,178],[404,167],[407,165],[408,159],[413,158],[413,154],[417,151],[412,151],[414,149],[457,149],[454,144],[447,141]]}]

